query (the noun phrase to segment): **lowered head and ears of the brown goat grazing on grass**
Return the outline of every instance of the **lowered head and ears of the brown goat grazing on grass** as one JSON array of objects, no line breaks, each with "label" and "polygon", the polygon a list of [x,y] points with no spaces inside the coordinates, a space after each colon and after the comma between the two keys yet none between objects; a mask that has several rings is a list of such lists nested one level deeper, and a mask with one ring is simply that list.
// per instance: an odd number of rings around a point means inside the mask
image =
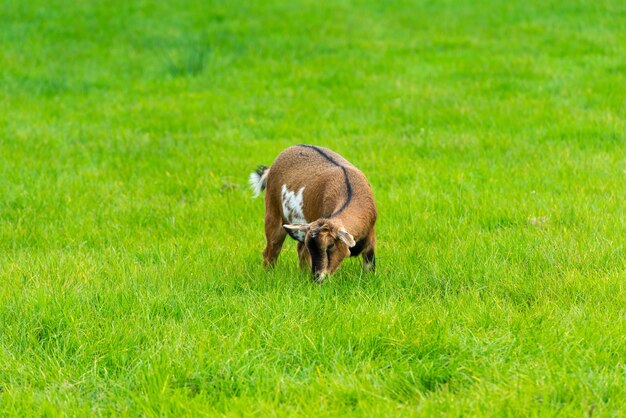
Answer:
[{"label": "lowered head and ears of the brown goat grazing on grass", "polygon": [[304,245],[311,259],[311,273],[321,282],[326,275],[333,274],[344,258],[350,256],[354,237],[346,231],[340,221],[321,218],[308,225],[283,225],[288,231],[305,232]]}]

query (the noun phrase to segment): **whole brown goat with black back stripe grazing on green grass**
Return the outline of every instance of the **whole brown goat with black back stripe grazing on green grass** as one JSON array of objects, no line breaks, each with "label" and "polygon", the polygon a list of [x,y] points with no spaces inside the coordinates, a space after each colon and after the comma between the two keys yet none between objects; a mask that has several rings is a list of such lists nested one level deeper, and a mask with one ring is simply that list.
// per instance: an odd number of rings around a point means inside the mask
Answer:
[{"label": "whole brown goat with black back stripe grazing on green grass", "polygon": [[372,189],[356,167],[328,148],[297,145],[281,152],[271,167],[250,174],[258,196],[265,193],[263,264],[272,266],[287,234],[298,241],[302,268],[317,282],[344,258],[363,255],[375,271],[377,210]]}]

